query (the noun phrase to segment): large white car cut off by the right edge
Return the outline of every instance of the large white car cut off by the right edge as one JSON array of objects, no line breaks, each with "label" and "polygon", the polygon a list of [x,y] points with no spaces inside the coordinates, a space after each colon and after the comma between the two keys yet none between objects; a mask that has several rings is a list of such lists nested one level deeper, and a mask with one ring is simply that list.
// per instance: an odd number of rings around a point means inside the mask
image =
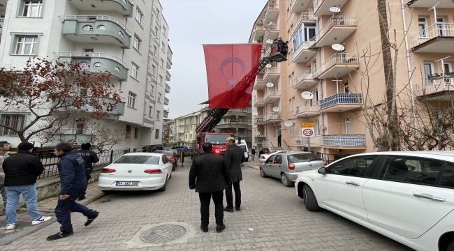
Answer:
[{"label": "large white car cut off by the right edge", "polygon": [[415,250],[454,250],[454,152],[351,155],[301,172],[296,194]]}]

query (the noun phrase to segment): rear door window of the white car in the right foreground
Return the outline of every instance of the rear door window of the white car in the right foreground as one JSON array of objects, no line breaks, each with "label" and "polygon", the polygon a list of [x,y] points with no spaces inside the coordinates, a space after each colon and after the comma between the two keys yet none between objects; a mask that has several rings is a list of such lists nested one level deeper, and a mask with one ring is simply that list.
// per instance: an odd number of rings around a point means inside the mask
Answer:
[{"label": "rear door window of the white car in the right foreground", "polygon": [[386,181],[435,185],[444,162],[411,156],[388,156],[379,178]]}]

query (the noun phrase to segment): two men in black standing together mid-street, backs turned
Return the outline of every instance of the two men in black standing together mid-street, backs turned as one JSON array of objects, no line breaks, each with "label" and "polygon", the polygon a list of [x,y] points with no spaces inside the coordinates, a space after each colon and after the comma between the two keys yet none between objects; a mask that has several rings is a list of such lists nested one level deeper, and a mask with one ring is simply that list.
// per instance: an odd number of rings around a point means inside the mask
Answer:
[{"label": "two men in black standing together mid-street, backs turned", "polygon": [[[224,155],[213,152],[213,145],[203,144],[203,153],[195,158],[189,170],[189,189],[195,189],[200,199],[200,229],[208,231],[210,218],[210,201],[214,202],[214,216],[216,231],[220,233],[226,229],[224,211],[233,213],[241,211],[242,181],[241,164],[246,159],[244,151],[235,144],[235,138],[226,139],[227,150]],[[235,190],[235,207],[233,206],[233,190]],[[224,208],[224,190],[226,190],[227,206]]]}]

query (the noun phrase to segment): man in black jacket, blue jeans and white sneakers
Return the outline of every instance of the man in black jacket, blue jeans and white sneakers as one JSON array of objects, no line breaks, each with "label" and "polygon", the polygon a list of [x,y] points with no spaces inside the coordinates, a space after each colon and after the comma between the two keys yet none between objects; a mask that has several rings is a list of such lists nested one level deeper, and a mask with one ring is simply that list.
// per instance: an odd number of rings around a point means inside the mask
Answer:
[{"label": "man in black jacket, blue jeans and white sneakers", "polygon": [[43,163],[39,157],[31,155],[33,144],[22,142],[17,146],[17,153],[3,161],[5,172],[6,197],[6,230],[15,229],[17,224],[16,206],[19,196],[24,197],[27,211],[32,219],[31,225],[50,220],[50,216],[41,216],[38,211],[38,199],[36,198],[36,177],[44,171]]}]

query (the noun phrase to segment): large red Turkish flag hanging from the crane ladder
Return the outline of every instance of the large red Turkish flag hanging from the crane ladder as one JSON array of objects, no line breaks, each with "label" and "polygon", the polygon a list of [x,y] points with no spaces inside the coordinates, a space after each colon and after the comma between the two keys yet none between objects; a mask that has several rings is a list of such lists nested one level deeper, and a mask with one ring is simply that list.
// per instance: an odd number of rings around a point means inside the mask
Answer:
[{"label": "large red Turkish flag hanging from the crane ladder", "polygon": [[210,108],[247,107],[262,45],[203,45],[203,50]]}]

